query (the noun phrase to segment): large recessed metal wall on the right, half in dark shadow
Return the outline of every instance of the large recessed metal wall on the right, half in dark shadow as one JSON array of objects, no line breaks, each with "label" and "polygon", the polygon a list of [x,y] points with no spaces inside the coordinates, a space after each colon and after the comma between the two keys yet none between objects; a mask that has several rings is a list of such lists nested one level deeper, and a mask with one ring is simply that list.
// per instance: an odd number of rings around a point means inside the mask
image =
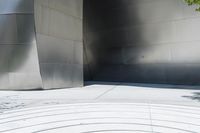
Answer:
[{"label": "large recessed metal wall on the right, half in dark shadow", "polygon": [[183,0],[84,0],[85,79],[199,85],[199,34]]}]

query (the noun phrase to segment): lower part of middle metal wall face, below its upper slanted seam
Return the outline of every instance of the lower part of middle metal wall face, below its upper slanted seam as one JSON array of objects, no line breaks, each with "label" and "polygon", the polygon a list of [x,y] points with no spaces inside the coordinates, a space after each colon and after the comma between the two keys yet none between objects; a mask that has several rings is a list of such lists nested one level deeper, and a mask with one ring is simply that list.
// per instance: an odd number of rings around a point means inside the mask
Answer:
[{"label": "lower part of middle metal wall face, below its upper slanted seam", "polygon": [[39,33],[37,43],[45,89],[82,86],[82,43]]}]

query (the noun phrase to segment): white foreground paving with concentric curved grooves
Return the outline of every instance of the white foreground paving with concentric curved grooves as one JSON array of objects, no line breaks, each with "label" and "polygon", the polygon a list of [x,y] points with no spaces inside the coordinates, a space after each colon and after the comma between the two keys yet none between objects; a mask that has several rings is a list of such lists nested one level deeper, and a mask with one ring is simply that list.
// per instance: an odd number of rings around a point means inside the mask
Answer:
[{"label": "white foreground paving with concentric curved grooves", "polygon": [[148,103],[77,103],[0,114],[0,133],[200,133],[200,108]]}]

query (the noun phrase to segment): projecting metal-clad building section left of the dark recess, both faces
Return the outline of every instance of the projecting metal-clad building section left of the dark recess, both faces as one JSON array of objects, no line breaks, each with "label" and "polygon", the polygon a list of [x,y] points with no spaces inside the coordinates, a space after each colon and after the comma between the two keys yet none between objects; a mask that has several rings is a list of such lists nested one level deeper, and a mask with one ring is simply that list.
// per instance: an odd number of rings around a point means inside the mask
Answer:
[{"label": "projecting metal-clad building section left of the dark recess, both faces", "polygon": [[82,0],[0,0],[0,89],[82,86]]}]

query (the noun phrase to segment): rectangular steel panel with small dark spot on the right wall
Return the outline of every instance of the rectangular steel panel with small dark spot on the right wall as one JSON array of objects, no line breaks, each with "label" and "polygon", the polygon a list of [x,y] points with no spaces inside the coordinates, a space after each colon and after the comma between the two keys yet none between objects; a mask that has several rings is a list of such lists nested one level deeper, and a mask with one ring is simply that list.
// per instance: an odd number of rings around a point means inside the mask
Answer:
[{"label": "rectangular steel panel with small dark spot on the right wall", "polygon": [[123,47],[123,64],[172,63],[170,45]]}]

